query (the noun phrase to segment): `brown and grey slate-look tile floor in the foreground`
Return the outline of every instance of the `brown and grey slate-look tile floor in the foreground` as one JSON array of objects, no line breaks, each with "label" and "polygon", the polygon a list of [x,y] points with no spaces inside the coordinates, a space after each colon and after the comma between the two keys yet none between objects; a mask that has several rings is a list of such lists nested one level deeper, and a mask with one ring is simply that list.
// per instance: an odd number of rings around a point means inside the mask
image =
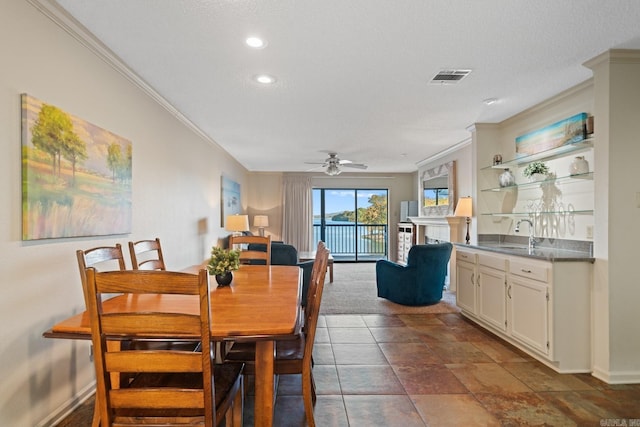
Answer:
[{"label": "brown and grey slate-look tile floor in the foreground", "polygon": [[[640,425],[640,384],[558,374],[457,313],[324,315],[314,360],[321,427]],[[306,424],[300,389],[279,378],[275,426]],[[60,426],[90,425],[88,405]]]}]

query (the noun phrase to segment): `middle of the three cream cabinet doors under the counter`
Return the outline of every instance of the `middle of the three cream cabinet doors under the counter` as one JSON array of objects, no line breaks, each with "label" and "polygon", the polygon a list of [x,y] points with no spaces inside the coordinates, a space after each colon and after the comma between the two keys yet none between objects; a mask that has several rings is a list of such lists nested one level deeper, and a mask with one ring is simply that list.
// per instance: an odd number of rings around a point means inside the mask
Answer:
[{"label": "middle of the three cream cabinet doors under the counter", "polygon": [[504,271],[478,267],[478,316],[501,331],[507,330],[506,283]]}]

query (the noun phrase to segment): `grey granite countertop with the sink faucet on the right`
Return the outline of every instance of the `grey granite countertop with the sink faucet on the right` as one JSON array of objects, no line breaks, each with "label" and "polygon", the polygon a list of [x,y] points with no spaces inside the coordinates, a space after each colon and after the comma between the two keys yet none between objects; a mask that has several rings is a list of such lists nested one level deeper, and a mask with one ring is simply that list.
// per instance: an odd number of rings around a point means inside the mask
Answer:
[{"label": "grey granite countertop with the sink faucet on the right", "polygon": [[455,243],[456,247],[484,250],[505,255],[514,255],[527,258],[535,258],[551,262],[581,261],[594,262],[593,250],[590,245],[566,244],[556,240],[553,245],[543,241],[536,245],[531,251],[527,243],[517,241],[505,241],[502,238],[491,240],[480,240],[477,244]]}]

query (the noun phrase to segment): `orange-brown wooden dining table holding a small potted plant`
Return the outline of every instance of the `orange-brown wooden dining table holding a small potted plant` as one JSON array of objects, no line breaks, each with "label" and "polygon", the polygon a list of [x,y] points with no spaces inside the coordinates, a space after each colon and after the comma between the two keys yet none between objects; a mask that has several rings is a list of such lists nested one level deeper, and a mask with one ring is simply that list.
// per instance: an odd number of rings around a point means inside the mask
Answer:
[{"label": "orange-brown wooden dining table holding a small potted plant", "polygon": [[[184,272],[197,273],[205,264],[194,265]],[[214,341],[254,341],[255,421],[256,426],[271,426],[274,409],[275,341],[294,339],[301,330],[302,273],[296,266],[243,265],[233,272],[231,285],[216,287],[211,280],[211,338]],[[185,304],[183,295],[157,298],[115,296],[103,303],[105,311],[179,310],[198,312],[197,300]],[[79,313],[55,324],[43,333],[46,338],[91,339],[91,323],[87,312]],[[164,337],[162,337],[164,338]],[[171,340],[172,337],[166,337]],[[185,339],[185,337],[180,337]],[[188,337],[187,337],[188,338]],[[194,336],[194,340],[197,337]],[[96,403],[97,404],[97,403]],[[99,420],[95,420],[94,425]]]}]

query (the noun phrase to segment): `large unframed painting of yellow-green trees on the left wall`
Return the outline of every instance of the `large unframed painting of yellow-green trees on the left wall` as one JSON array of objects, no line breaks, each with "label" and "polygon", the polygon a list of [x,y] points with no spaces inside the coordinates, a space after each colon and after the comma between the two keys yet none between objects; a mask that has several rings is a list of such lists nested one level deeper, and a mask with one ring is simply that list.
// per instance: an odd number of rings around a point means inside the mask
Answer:
[{"label": "large unframed painting of yellow-green trees on the left wall", "polygon": [[131,142],[23,94],[22,239],[131,232]]}]

